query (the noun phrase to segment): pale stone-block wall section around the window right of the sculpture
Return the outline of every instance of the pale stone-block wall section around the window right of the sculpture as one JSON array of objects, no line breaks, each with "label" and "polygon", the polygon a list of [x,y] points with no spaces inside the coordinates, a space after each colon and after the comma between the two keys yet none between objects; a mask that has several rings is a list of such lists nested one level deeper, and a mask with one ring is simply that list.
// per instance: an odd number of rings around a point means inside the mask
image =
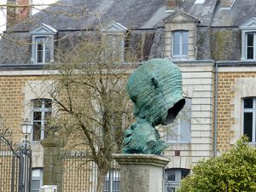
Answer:
[{"label": "pale stone-block wall section around the window right of the sculpture", "polygon": [[191,169],[199,160],[212,156],[213,63],[187,62],[179,67],[184,95],[192,98],[191,143],[171,143],[165,155],[171,158],[169,168]]}]

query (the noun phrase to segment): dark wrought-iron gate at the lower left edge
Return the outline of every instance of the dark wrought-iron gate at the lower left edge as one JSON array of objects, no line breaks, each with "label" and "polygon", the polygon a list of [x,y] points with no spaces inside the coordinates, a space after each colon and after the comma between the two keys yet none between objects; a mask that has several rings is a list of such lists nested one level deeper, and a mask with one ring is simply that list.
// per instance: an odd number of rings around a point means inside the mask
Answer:
[{"label": "dark wrought-iron gate at the lower left edge", "polygon": [[0,192],[30,192],[32,154],[26,142],[15,145],[11,132],[0,130]]}]

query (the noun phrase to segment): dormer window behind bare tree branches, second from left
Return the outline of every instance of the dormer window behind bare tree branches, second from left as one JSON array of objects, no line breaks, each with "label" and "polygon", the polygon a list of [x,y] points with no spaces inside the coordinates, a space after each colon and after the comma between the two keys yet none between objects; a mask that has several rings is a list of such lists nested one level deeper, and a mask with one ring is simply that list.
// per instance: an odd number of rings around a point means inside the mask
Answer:
[{"label": "dormer window behind bare tree branches, second from left", "polygon": [[106,53],[113,60],[124,61],[125,32],[127,28],[113,21],[102,28],[103,39],[106,43]]}]

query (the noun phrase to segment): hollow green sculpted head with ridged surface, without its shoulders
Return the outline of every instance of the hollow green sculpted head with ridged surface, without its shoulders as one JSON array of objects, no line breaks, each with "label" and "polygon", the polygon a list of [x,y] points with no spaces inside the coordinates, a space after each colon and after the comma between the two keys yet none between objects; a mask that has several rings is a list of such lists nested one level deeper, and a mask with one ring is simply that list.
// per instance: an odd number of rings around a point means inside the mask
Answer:
[{"label": "hollow green sculpted head with ridged surface, without its shoulders", "polygon": [[137,122],[172,123],[183,108],[182,75],[171,61],[153,59],[138,67],[126,84]]}]

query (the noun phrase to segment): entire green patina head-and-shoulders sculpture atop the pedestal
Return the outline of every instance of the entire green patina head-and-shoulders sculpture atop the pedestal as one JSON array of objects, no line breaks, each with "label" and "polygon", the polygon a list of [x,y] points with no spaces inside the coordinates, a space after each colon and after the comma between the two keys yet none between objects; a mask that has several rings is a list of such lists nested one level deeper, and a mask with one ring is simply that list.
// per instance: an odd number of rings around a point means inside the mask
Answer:
[{"label": "entire green patina head-and-shoulders sculpture atop the pedestal", "polygon": [[172,123],[185,104],[180,70],[171,61],[146,61],[131,74],[126,89],[137,123],[125,131],[123,153],[161,154],[168,144],[154,126]]}]

